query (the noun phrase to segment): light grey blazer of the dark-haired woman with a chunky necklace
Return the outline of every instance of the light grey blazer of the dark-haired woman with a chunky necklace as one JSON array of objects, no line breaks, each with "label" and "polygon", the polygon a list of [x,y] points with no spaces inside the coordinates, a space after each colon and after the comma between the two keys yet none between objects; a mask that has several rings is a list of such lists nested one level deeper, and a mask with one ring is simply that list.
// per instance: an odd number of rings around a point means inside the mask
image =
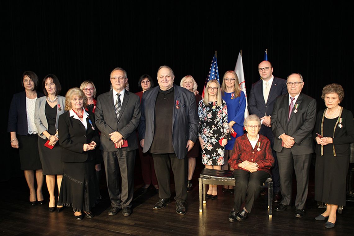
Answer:
[{"label": "light grey blazer of the dark-haired woman with a chunky necklace", "polygon": [[[38,130],[38,136],[41,137],[42,139],[46,139],[46,137],[43,135],[43,132],[48,130],[48,122],[47,122],[47,117],[45,115],[45,104],[46,104],[46,97],[38,98],[36,100],[36,106],[34,110],[34,123]],[[58,96],[57,118],[55,122],[56,130],[58,130],[59,116],[65,112],[64,107],[65,107],[65,97]]]}]

